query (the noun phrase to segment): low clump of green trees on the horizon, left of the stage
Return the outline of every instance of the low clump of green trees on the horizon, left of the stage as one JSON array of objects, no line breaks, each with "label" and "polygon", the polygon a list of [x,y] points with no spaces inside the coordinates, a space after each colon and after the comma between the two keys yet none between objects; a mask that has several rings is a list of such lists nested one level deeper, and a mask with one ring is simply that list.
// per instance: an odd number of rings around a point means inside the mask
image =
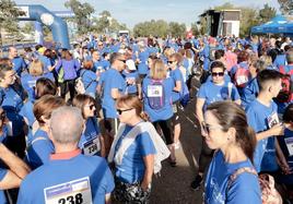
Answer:
[{"label": "low clump of green trees on the horizon, left of the stage", "polygon": [[133,27],[133,34],[136,37],[157,36],[166,37],[172,35],[174,37],[185,36],[186,26],[177,22],[171,22],[169,24],[164,20],[151,20],[139,23]]}]

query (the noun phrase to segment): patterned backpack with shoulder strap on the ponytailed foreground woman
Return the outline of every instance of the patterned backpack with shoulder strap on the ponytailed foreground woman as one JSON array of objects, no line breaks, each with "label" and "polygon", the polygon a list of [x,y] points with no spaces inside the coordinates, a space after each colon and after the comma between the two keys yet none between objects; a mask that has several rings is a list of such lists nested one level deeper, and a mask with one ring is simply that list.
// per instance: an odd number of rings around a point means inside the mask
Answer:
[{"label": "patterned backpack with shoulder strap on the ponytailed foreground woman", "polygon": [[[256,170],[250,167],[243,167],[234,171],[227,182],[227,189],[231,188],[232,183],[236,180],[237,176],[243,172],[249,172],[258,176]],[[262,204],[282,204],[282,197],[280,193],[274,188],[274,179],[268,173],[262,173],[258,176],[258,182],[261,190],[261,201]]]}]

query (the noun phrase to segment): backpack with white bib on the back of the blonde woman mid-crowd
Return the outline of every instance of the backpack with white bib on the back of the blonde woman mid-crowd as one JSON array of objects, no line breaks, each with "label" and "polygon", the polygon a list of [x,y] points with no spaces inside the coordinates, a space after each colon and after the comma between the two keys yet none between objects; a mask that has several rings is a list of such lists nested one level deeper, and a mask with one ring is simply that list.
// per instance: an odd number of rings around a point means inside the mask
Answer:
[{"label": "backpack with white bib on the back of the blonde woman mid-crowd", "polygon": [[165,106],[165,93],[162,80],[152,80],[148,85],[146,96],[152,109],[159,110]]}]

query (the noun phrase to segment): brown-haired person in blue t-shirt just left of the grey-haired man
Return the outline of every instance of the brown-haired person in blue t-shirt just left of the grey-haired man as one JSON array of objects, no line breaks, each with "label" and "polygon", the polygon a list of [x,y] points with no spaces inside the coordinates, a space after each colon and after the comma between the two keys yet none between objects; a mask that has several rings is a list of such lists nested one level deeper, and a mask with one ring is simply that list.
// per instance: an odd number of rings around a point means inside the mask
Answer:
[{"label": "brown-haired person in blue t-shirt just left of the grey-haired man", "polygon": [[52,110],[65,105],[66,103],[62,98],[51,95],[45,95],[35,103],[34,115],[39,128],[34,133],[26,154],[26,160],[32,169],[47,164],[50,154],[55,152],[55,147],[48,135],[50,115]]}]

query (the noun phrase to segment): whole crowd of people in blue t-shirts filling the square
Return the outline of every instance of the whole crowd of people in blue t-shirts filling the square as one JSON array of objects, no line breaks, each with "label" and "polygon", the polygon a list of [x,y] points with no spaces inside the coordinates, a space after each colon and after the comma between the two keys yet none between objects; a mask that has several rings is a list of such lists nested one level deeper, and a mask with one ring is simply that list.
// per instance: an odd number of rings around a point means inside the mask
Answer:
[{"label": "whole crowd of people in blue t-shirts filling the square", "polygon": [[263,173],[293,201],[289,37],[10,47],[0,103],[0,203],[149,203],[161,163],[177,166],[187,105],[202,137],[190,187],[204,181],[204,203],[265,203]]}]

